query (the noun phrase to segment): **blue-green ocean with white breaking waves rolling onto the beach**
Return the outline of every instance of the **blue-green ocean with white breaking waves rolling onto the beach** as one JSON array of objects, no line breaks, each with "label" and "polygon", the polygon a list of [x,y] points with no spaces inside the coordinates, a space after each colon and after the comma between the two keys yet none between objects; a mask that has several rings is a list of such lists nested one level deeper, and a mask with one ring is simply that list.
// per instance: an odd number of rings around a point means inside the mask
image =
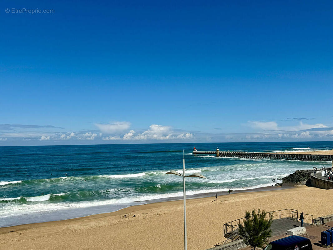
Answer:
[{"label": "blue-green ocean with white breaking waves rolling onto the beach", "polygon": [[[242,159],[198,151],[330,150],[333,142],[184,143],[0,147],[0,227],[63,220],[182,198],[182,178],[200,172],[186,195],[273,186],[295,170],[331,162]],[[275,179],[275,181],[273,181]],[[190,196],[191,197],[191,196]]]}]

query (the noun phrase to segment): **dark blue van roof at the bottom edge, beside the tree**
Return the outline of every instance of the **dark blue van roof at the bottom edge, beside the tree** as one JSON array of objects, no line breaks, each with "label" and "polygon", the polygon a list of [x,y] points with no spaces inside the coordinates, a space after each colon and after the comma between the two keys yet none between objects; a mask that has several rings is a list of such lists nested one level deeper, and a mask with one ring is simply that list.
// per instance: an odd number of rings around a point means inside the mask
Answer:
[{"label": "dark blue van roof at the bottom edge, beside the tree", "polygon": [[270,242],[264,250],[312,250],[312,244],[307,238],[292,235]]}]

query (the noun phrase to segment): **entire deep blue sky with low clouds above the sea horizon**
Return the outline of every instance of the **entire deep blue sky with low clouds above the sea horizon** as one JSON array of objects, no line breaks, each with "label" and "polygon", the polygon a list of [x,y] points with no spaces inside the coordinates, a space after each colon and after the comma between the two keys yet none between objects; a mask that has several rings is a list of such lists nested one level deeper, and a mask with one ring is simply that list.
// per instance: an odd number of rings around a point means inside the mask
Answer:
[{"label": "entire deep blue sky with low clouds above the sea horizon", "polygon": [[332,1],[0,6],[0,146],[333,140]]}]

